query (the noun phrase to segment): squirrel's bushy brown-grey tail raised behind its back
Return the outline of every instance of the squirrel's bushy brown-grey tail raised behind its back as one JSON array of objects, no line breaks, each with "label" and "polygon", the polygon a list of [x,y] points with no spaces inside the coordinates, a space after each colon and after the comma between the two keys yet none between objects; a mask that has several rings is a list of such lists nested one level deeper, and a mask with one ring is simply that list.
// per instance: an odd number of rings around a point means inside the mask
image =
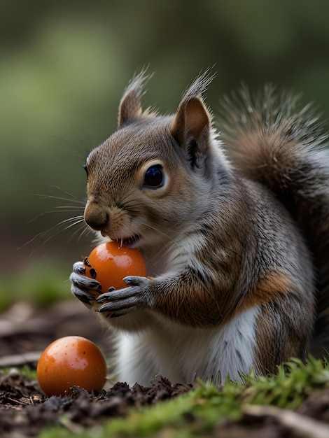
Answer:
[{"label": "squirrel's bushy brown-grey tail raised behind its back", "polygon": [[222,102],[221,138],[237,171],[267,185],[283,202],[314,255],[318,320],[311,353],[329,351],[329,150],[311,105],[267,86],[246,87]]}]

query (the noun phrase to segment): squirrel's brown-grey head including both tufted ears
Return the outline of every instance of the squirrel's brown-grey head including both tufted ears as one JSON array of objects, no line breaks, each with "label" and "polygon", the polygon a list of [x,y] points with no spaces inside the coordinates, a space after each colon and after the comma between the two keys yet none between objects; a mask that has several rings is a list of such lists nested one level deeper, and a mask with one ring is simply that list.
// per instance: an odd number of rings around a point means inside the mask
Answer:
[{"label": "squirrel's brown-grey head including both tufted ears", "polygon": [[136,248],[172,239],[180,227],[195,221],[202,194],[209,191],[214,159],[221,154],[202,99],[212,78],[206,73],[197,78],[176,114],[167,116],[142,111],[146,78],[142,72],[128,85],[118,129],[92,150],[85,166],[85,222]]}]

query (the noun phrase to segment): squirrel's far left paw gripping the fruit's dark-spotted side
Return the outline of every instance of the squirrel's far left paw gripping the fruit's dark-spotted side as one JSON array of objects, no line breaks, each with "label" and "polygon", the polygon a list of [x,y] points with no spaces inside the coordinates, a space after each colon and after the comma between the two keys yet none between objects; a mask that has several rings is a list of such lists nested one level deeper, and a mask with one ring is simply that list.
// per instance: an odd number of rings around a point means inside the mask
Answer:
[{"label": "squirrel's far left paw gripping the fruit's dark-spotted side", "polygon": [[73,264],[73,272],[69,279],[71,281],[71,292],[80,299],[85,306],[92,307],[99,294],[102,293],[102,285],[97,280],[93,280],[84,275],[85,267],[83,262]]}]

